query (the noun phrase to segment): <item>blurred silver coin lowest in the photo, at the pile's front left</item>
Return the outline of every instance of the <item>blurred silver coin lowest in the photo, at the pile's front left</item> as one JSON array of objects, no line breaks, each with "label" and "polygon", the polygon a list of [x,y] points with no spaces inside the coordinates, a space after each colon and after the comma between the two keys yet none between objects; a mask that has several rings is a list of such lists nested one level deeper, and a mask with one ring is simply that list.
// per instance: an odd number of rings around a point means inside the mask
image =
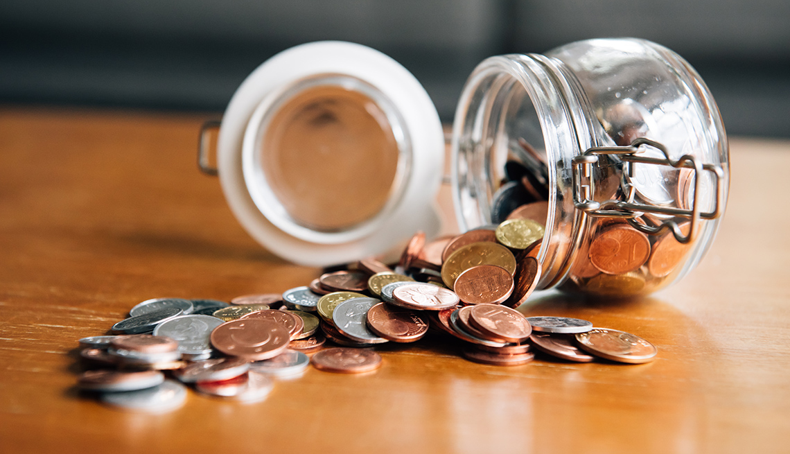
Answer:
[{"label": "blurred silver coin lowest in the photo, at the pile's front left", "polygon": [[186,387],[177,381],[165,380],[160,385],[138,391],[105,392],[100,400],[126,410],[158,413],[181,407],[186,400]]}]

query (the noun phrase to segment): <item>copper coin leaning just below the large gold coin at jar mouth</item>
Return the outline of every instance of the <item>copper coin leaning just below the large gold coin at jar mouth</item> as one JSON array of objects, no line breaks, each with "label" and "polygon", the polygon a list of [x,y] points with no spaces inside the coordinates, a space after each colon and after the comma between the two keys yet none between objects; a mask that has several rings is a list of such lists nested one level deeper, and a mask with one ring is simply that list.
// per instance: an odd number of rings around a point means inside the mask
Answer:
[{"label": "copper coin leaning just below the large gold coin at jar mouth", "polygon": [[477,265],[458,275],[453,290],[466,304],[499,304],[513,293],[513,276],[496,265]]}]

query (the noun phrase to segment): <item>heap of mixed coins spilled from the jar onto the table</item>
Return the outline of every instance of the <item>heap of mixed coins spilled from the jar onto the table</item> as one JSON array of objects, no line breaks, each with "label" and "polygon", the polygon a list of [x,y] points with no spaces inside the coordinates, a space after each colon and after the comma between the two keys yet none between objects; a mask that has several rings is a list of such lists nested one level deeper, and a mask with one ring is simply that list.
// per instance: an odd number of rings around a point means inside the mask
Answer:
[{"label": "heap of mixed coins spilled from the jar onto the table", "polygon": [[397,264],[366,259],[282,294],[231,303],[146,300],[113,325],[115,335],[80,340],[87,370],[77,386],[137,411],[177,408],[187,387],[258,401],[274,381],[299,377],[310,365],[371,373],[383,363],[377,345],[417,342],[431,332],[460,341],[463,358],[494,366],[523,365],[536,353],[570,362],[653,360],[656,347],[633,334],[514,309],[540,280],[541,238],[540,223],[507,219],[433,242],[418,233]]}]

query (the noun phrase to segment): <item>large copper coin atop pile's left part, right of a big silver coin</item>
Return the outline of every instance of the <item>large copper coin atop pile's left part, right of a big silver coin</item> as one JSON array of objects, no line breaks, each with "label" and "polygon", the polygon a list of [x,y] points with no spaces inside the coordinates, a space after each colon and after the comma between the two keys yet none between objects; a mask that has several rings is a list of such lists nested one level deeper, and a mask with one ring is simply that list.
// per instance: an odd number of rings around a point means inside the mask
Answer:
[{"label": "large copper coin atop pile's left part, right of a big silver coin", "polygon": [[283,325],[256,318],[228,321],[211,333],[211,343],[225,355],[250,361],[273,358],[288,348],[291,335]]}]

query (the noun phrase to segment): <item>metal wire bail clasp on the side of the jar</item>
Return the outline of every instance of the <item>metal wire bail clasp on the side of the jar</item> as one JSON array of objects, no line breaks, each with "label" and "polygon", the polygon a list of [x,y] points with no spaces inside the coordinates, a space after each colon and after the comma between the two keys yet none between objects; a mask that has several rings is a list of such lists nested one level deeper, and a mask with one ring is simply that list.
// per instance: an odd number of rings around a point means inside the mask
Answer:
[{"label": "metal wire bail clasp on the side of the jar", "polygon": [[[664,154],[664,158],[653,158],[649,156],[639,156],[642,152],[642,145],[647,145],[659,150]],[[634,186],[624,187],[626,189],[626,200],[608,200],[598,202],[592,200],[595,193],[595,178],[592,178],[592,166],[599,162],[599,155],[616,155],[623,162],[623,172],[627,172],[629,177],[634,177],[634,163],[655,164],[659,166],[671,166],[677,169],[687,168],[691,170],[690,178],[694,182],[694,198],[690,203],[690,209],[672,208],[657,206],[654,204],[640,204],[634,201],[636,188]],[[673,160],[669,157],[667,148],[656,141],[639,137],[626,146],[614,147],[592,147],[587,149],[573,159],[573,178],[574,178],[574,205],[577,209],[585,212],[592,217],[622,218],[627,219],[628,223],[638,231],[647,235],[658,235],[664,231],[671,230],[675,239],[683,244],[691,242],[698,233],[699,219],[716,219],[721,215],[721,201],[724,199],[724,187],[721,182],[724,179],[724,171],[718,165],[699,163],[694,156],[683,155],[679,159]],[[700,205],[700,176],[702,171],[708,171],[716,180],[716,196],[713,211],[702,212]],[[635,218],[641,213],[655,213],[659,215],[677,216],[691,219],[687,235],[683,235],[678,223],[669,219],[660,223],[656,227],[638,223]]]}]

